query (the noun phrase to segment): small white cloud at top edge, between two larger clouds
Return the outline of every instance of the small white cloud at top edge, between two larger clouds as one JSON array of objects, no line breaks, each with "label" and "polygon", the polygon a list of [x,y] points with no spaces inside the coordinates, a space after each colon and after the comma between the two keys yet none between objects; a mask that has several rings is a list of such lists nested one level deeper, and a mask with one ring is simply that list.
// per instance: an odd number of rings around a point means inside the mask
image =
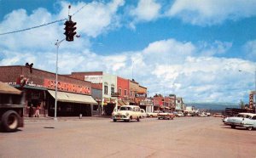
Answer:
[{"label": "small white cloud at top edge, between two larger clouds", "polygon": [[137,3],[137,8],[131,9],[131,16],[134,16],[137,21],[155,20],[160,16],[160,3],[154,0],[140,0]]}]

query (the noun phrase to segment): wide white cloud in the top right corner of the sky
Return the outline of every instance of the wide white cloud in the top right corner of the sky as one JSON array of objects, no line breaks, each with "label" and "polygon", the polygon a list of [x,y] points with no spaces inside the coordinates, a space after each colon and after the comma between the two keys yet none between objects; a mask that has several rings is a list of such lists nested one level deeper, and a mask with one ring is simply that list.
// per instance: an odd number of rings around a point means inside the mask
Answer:
[{"label": "wide white cloud in the top right corner of the sky", "polygon": [[216,25],[255,16],[254,6],[254,0],[176,0],[166,14],[193,25]]}]

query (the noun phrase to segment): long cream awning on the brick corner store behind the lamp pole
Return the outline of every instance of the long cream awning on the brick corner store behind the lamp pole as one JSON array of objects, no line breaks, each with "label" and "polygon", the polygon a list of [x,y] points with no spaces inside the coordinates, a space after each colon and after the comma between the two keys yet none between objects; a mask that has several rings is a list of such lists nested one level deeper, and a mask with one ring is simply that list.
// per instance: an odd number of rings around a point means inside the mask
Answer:
[{"label": "long cream awning on the brick corner store behind the lamp pole", "polygon": [[[55,99],[55,91],[48,90],[48,92]],[[95,99],[93,99],[91,96],[77,93],[58,92],[57,99],[61,102],[97,104]]]}]

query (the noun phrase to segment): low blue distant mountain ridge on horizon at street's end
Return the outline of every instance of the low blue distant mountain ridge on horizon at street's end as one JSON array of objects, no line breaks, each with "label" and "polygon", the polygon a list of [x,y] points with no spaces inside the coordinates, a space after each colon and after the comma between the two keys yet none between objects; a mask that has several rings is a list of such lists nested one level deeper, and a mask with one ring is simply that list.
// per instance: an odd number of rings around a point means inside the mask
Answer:
[{"label": "low blue distant mountain ridge on horizon at street's end", "polygon": [[195,106],[195,109],[225,110],[225,108],[240,108],[239,104],[233,103],[188,103],[187,106]]}]

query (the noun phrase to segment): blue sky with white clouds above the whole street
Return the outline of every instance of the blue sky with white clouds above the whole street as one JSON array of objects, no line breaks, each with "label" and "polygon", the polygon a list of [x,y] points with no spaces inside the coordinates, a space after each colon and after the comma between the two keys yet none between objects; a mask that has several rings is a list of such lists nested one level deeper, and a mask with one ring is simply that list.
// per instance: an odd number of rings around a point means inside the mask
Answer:
[{"label": "blue sky with white clouds above the whole street", "polygon": [[[71,8],[68,10],[68,5]],[[0,0],[0,65],[104,71],[185,103],[248,103],[256,84],[255,0]]]}]

